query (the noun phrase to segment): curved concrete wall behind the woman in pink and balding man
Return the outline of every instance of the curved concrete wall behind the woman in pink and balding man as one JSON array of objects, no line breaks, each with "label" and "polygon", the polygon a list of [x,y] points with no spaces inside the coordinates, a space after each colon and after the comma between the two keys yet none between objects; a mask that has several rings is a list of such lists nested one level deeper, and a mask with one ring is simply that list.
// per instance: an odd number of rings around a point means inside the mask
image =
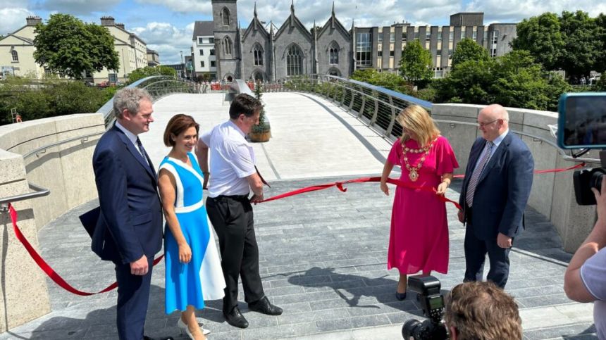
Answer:
[{"label": "curved concrete wall behind the woman in pink and balding man", "polygon": [[[455,120],[460,122],[476,122],[477,115],[483,106],[469,104],[434,104],[433,118],[436,120]],[[557,113],[546,111],[507,108],[509,112],[509,128],[537,137],[543,137],[555,142],[548,125],[557,122]],[[456,173],[461,174],[467,166],[467,158],[473,141],[480,136],[478,128],[473,125],[438,123],[442,134],[452,144],[459,160]],[[522,136],[528,145],[535,161],[535,170],[568,168],[576,162],[564,160],[557,149],[540,139]],[[597,154],[589,155],[598,158]],[[564,250],[574,253],[589,234],[595,223],[595,206],[579,206],[574,199],[572,185],[573,172],[537,174],[533,179],[528,205],[535,208],[550,219],[562,238]]]}]

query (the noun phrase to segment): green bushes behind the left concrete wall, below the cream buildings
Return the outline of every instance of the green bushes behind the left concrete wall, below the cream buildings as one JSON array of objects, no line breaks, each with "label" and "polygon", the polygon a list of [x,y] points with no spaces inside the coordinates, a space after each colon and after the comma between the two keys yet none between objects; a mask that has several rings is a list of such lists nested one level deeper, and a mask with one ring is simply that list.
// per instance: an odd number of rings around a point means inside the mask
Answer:
[{"label": "green bushes behind the left concrete wall, below the cream buildings", "polygon": [[71,80],[32,82],[11,77],[0,86],[0,125],[11,123],[11,108],[23,120],[96,112],[115,91]]}]

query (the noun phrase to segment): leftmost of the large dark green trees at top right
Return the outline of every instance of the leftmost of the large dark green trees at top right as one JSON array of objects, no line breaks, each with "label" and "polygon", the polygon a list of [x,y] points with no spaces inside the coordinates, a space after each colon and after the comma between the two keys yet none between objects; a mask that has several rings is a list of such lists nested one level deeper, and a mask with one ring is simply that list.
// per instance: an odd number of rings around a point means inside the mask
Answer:
[{"label": "leftmost of the large dark green trees at top right", "polygon": [[524,49],[543,64],[547,70],[556,70],[564,51],[564,38],[559,18],[555,13],[543,13],[522,20],[517,25],[517,38],[512,41],[514,50]]}]

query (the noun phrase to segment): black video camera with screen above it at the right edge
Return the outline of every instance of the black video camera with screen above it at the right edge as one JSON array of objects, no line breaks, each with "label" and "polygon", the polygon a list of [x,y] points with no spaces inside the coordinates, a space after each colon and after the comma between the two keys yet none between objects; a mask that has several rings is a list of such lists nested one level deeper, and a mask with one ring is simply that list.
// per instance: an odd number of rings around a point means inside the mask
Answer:
[{"label": "black video camera with screen above it at the right edge", "polygon": [[602,187],[606,174],[606,92],[562,94],[559,97],[557,143],[562,149],[601,149],[600,168],[576,170],[574,196],[581,206],[595,204],[591,188]]}]

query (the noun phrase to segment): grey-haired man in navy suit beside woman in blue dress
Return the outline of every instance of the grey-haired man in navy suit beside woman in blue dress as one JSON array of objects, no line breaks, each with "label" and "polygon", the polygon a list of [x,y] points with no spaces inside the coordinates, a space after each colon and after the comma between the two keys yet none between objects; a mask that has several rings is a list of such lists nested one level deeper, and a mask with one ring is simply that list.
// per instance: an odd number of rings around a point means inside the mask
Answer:
[{"label": "grey-haired man in navy suit beside woman in blue dress", "polygon": [[143,335],[152,261],[162,246],[162,210],[152,160],[138,134],[149,131],[152,97],[122,89],[113,98],[116,123],[99,139],[92,158],[100,213],[92,251],[116,264],[117,325],[121,340]]}]

